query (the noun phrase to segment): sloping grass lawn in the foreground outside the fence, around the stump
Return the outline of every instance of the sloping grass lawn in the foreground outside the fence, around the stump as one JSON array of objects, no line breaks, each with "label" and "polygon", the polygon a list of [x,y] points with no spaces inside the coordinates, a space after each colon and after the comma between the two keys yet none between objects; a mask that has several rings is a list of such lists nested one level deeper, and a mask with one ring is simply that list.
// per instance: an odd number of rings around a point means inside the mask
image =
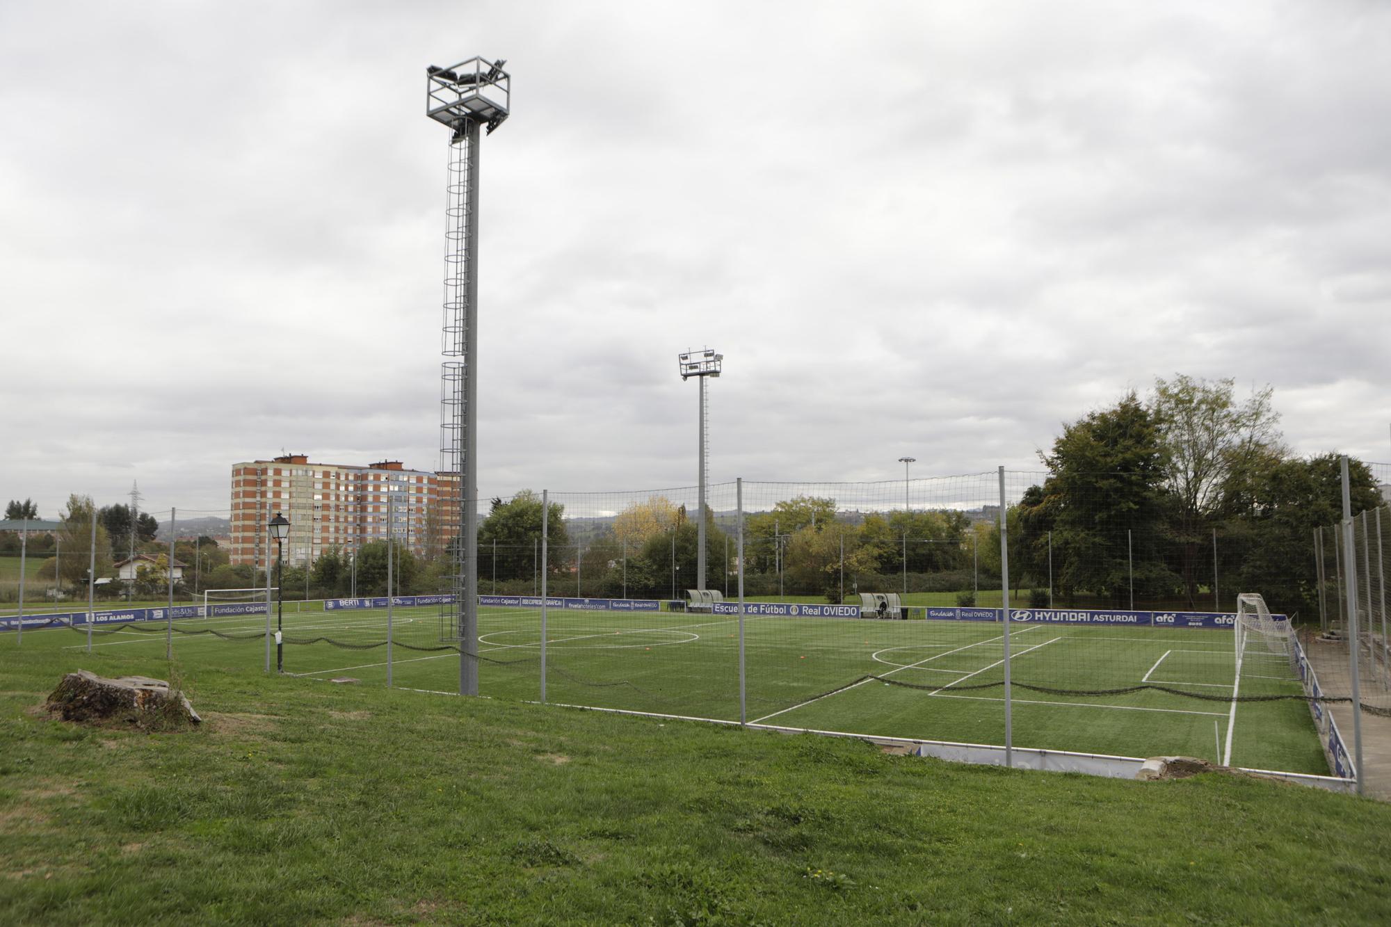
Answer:
[{"label": "sloping grass lawn in the foreground outside the fence, around the stump", "polygon": [[[1391,807],[1317,789],[953,766],[39,640],[0,636],[6,924],[1370,924],[1391,905]],[[181,676],[206,722],[38,713],[79,667]]]}]

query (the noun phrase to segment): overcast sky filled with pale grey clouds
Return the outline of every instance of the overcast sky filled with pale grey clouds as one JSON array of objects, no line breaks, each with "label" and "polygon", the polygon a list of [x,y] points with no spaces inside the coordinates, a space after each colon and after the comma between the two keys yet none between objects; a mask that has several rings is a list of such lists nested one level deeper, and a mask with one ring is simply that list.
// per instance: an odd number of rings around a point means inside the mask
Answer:
[{"label": "overcast sky filled with pale grey clouds", "polygon": [[438,466],[481,146],[480,491],[1036,469],[1156,376],[1391,458],[1391,6],[0,3],[0,498]]}]

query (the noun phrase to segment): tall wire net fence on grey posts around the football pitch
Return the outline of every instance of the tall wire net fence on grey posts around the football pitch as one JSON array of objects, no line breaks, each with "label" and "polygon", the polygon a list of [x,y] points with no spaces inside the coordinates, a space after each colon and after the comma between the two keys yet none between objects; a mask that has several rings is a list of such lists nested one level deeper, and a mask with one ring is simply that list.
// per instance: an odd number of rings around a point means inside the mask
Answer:
[{"label": "tall wire net fence on grey posts around the football pitch", "polygon": [[[22,626],[18,603],[0,622],[191,667],[458,692],[476,665],[492,697],[1351,777],[1355,738],[1391,714],[1391,509],[1373,489],[1391,468],[1356,476],[1351,526],[1260,500],[1185,514],[1142,469],[719,483],[704,512],[697,487],[520,491],[474,501],[476,642],[452,522],[409,487],[348,544],[316,547],[331,500],[255,500],[235,564],[185,532],[174,608],[149,576],[114,597],[78,582],[120,560],[79,514],[61,551],[25,541],[72,558],[54,564],[67,597],[45,600],[40,572]],[[274,514],[294,525],[278,544]],[[1242,593],[1266,617],[1238,633]]]}]

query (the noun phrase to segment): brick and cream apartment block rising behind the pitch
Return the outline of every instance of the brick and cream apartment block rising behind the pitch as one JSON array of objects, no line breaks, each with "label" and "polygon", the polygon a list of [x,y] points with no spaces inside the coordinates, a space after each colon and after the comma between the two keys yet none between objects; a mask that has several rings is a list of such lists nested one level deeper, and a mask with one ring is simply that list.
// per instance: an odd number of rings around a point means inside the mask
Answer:
[{"label": "brick and cream apartment block rising behind the pitch", "polygon": [[353,551],[392,530],[419,557],[437,550],[458,504],[455,473],[409,470],[401,461],[367,466],[312,464],[305,454],[232,464],[232,564],[267,562],[267,522],[289,519],[285,562],[313,564],[337,547]]}]

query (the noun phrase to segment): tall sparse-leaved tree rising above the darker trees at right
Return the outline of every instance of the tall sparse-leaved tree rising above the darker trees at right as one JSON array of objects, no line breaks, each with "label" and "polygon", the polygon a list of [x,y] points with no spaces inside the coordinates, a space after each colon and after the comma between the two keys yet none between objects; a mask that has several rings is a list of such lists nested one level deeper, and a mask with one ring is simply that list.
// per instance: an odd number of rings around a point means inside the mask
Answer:
[{"label": "tall sparse-leaved tree rising above the darker trees at right", "polygon": [[1164,482],[1177,507],[1171,522],[1189,607],[1198,604],[1212,526],[1228,483],[1256,479],[1259,470],[1283,457],[1280,415],[1273,390],[1235,398],[1234,380],[1202,380],[1184,374],[1155,381],[1152,411],[1163,450]]}]

